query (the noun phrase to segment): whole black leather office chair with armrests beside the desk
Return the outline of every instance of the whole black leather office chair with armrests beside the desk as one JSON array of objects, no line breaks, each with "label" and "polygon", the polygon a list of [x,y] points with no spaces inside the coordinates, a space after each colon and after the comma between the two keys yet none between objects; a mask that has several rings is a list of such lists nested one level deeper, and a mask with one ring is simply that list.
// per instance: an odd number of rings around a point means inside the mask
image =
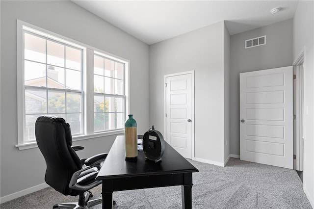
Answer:
[{"label": "whole black leather office chair with armrests beside the desk", "polygon": [[78,203],[56,204],[53,209],[88,209],[102,203],[101,198],[89,201],[93,195],[88,190],[102,183],[95,178],[107,154],[79,159],[75,151],[84,148],[72,146],[70,125],[60,117],[43,115],[37,118],[35,134],[46,160],[46,183],[64,195],[79,195]]}]

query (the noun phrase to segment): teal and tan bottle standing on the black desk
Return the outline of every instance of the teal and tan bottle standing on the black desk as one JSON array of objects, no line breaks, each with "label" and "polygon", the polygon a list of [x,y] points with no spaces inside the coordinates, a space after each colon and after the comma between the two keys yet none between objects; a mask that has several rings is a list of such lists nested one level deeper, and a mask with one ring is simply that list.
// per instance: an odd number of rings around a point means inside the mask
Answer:
[{"label": "teal and tan bottle standing on the black desk", "polygon": [[126,160],[137,159],[137,124],[133,115],[129,115],[129,119],[125,123],[125,154]]}]

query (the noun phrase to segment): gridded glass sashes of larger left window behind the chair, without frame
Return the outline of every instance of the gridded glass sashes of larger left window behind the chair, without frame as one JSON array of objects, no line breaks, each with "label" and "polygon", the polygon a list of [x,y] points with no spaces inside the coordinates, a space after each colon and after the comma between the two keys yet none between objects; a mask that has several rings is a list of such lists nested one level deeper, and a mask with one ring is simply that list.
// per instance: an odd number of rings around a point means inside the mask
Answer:
[{"label": "gridded glass sashes of larger left window behind the chair, without frame", "polygon": [[24,35],[24,142],[35,141],[42,114],[63,117],[83,134],[83,50],[26,29]]}]

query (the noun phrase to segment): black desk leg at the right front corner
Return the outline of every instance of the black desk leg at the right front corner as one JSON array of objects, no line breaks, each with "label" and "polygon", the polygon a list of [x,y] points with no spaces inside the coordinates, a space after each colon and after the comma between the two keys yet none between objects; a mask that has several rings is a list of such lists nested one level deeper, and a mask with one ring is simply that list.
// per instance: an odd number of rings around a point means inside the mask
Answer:
[{"label": "black desk leg at the right front corner", "polygon": [[181,186],[182,193],[182,208],[192,209],[192,173],[183,175],[183,185]]}]

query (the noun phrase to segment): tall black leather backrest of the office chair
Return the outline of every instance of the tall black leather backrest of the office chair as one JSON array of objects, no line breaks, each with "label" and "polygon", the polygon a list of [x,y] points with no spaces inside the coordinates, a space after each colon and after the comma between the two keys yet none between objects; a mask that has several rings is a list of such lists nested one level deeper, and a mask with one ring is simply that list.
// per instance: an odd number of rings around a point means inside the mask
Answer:
[{"label": "tall black leather backrest of the office chair", "polygon": [[70,125],[63,118],[43,115],[37,118],[35,135],[47,169],[45,181],[64,195],[77,195],[69,188],[72,175],[82,168],[80,159],[71,148]]}]

